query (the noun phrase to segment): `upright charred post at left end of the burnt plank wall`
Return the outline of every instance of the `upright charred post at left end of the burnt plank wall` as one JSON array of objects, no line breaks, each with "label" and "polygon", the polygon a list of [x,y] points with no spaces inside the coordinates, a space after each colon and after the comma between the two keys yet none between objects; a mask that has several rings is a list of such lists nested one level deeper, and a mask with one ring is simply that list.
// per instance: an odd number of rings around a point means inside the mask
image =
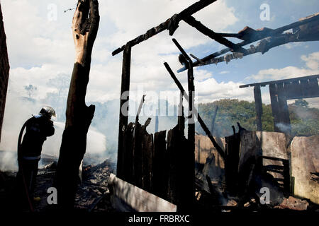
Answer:
[{"label": "upright charred post at left end of the burnt plank wall", "polygon": [[118,125],[118,162],[116,167],[116,177],[123,178],[123,136],[125,128],[128,126],[128,101],[130,100],[130,59],[131,47],[128,42],[123,52],[122,80],[121,80],[121,103],[120,119]]}]

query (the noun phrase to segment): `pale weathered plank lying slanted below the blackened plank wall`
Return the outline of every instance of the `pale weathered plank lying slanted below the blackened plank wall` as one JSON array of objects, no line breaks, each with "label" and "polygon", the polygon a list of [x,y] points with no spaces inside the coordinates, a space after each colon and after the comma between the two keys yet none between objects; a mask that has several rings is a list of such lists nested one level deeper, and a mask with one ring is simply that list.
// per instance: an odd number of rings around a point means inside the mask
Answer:
[{"label": "pale weathered plank lying slanted below the blackened plank wall", "polygon": [[[144,191],[133,184],[123,181],[111,174],[108,186],[113,197],[119,198],[125,204],[138,212],[176,212],[177,206]],[[114,199],[113,199],[114,200]],[[113,203],[118,209],[123,209],[121,203]]]}]

